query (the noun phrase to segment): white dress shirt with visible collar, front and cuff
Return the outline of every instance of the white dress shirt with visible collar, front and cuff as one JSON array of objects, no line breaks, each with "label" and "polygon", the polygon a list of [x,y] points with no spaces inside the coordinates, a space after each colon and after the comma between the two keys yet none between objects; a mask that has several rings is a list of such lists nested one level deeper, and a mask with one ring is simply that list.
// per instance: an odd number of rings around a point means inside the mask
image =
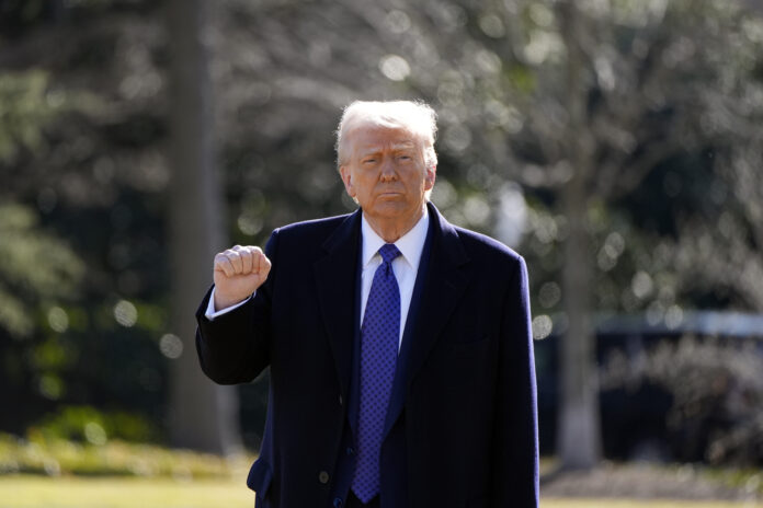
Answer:
[{"label": "white dress shirt with visible collar, front and cuff", "polygon": [[[368,301],[368,293],[371,293],[371,285],[374,281],[374,274],[376,273],[376,268],[382,264],[382,255],[378,251],[382,249],[382,245],[387,242],[376,234],[376,231],[374,231],[366,220],[365,215],[363,215],[361,221],[361,236],[363,238],[363,249],[361,253],[363,256],[361,258],[363,266],[361,272],[361,315],[365,316],[365,307]],[[408,310],[411,307],[413,286],[415,286],[415,276],[419,273],[419,264],[421,263],[421,253],[424,250],[428,229],[429,213],[424,210],[419,222],[395,242],[395,246],[400,251],[400,255],[392,261],[392,272],[395,273],[398,288],[400,288],[400,339],[398,342],[398,350],[402,344],[402,333],[406,330]],[[216,311],[215,289],[213,288],[212,295],[209,296],[209,303],[207,304],[204,315],[212,321],[244,304],[249,299]]]}]

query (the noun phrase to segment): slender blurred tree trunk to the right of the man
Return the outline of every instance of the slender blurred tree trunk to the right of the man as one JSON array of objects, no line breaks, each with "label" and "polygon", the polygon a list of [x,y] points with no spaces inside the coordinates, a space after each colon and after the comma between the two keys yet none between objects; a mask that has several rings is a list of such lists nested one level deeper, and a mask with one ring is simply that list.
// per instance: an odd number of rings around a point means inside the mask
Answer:
[{"label": "slender blurred tree trunk to the right of the man", "polygon": [[560,348],[561,407],[557,453],[563,469],[590,469],[601,455],[595,335],[591,323],[593,259],[587,227],[594,138],[588,125],[585,32],[573,0],[560,4],[560,28],[567,47],[566,151],[572,178],[561,190],[568,221],[562,268],[562,295],[568,330]]}]

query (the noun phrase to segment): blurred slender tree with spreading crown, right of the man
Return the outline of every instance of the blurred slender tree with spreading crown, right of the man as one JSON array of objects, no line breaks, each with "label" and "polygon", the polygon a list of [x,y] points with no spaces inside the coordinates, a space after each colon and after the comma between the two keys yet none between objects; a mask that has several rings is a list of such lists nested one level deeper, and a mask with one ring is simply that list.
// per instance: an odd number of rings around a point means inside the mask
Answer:
[{"label": "blurred slender tree with spreading crown, right of the man", "polygon": [[[514,124],[513,136],[482,153],[502,157],[498,165],[512,168],[508,174],[526,186],[550,190],[550,206],[562,219],[558,238],[563,243],[566,338],[557,450],[562,466],[590,467],[600,454],[594,281],[600,278],[596,268],[614,267],[607,257],[622,253],[617,244],[623,236],[607,232],[612,244],[599,252],[594,245],[608,210],[650,172],[691,163],[713,146],[715,135],[702,128],[702,120],[713,115],[710,97],[726,91],[722,73],[732,69],[719,62],[740,45],[752,50],[755,41],[748,32],[756,28],[740,30],[743,12],[737,4],[510,3],[513,8],[502,2],[467,11],[466,19],[477,25],[471,32],[477,55],[498,55],[509,66],[506,72],[475,79],[472,96],[489,104],[487,95],[510,112],[514,108],[508,116],[516,120],[504,124]],[[743,68],[736,72],[738,80],[747,74]],[[741,95],[734,100],[744,104]],[[474,106],[481,115],[479,104]],[[741,109],[733,116],[749,118]],[[711,170],[697,166],[692,173],[709,177]],[[637,300],[651,298],[649,270],[646,266],[634,277]]]}]

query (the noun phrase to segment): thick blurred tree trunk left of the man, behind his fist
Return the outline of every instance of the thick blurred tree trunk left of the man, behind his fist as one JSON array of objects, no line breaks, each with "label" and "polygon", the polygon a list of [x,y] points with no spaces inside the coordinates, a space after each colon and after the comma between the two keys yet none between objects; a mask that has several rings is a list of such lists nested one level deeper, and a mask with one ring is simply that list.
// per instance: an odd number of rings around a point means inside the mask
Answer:
[{"label": "thick blurred tree trunk left of the man, behind his fist", "polygon": [[225,243],[223,192],[215,173],[207,48],[207,0],[169,0],[169,196],[171,325],[183,344],[171,360],[170,434],[178,447],[216,453],[240,448],[235,389],[209,381],[195,354],[193,313]]}]

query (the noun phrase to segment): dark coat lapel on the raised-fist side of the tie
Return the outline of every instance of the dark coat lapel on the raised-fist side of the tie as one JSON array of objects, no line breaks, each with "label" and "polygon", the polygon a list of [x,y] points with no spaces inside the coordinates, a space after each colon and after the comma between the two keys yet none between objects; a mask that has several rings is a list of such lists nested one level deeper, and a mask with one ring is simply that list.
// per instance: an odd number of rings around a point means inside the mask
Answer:
[{"label": "dark coat lapel on the raised-fist side of the tie", "polygon": [[323,243],[326,256],[314,265],[320,313],[329,336],[344,401],[349,401],[352,374],[360,234],[358,209],[348,216]]}]

